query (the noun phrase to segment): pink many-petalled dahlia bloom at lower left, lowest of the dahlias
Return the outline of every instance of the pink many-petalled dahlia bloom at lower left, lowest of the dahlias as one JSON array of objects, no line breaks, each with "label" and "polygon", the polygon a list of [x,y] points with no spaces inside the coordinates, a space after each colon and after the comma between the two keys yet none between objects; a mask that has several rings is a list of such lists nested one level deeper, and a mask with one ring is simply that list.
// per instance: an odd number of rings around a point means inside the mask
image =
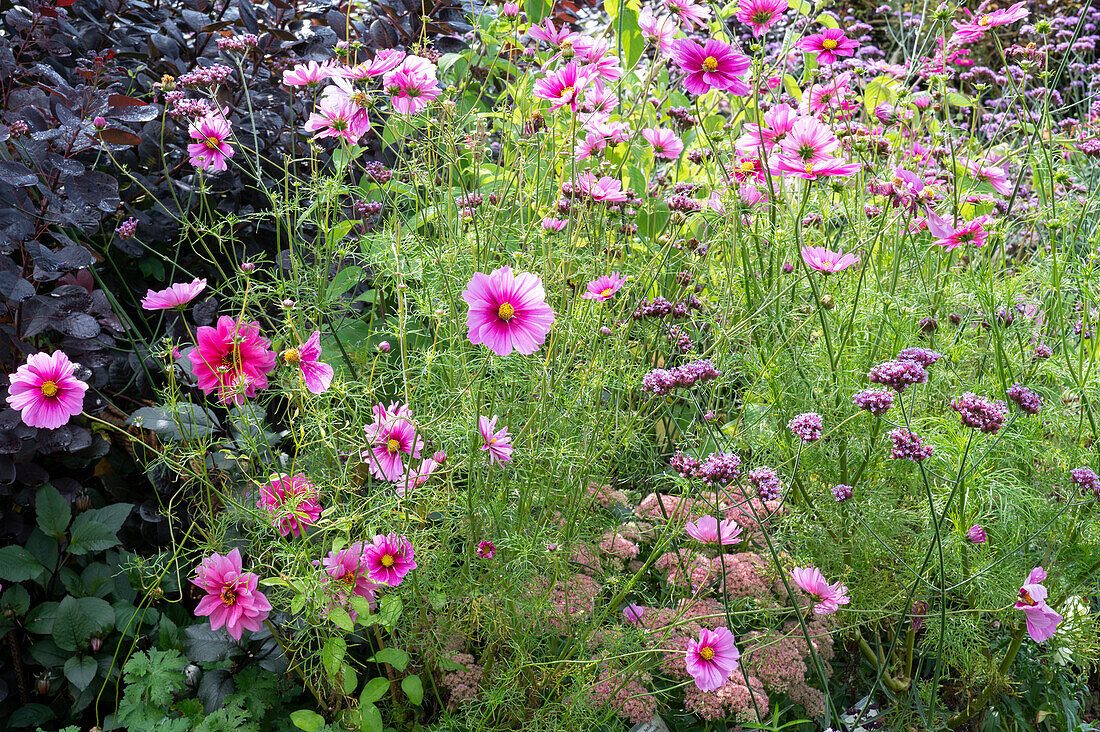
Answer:
[{"label": "pink many-petalled dahlia bloom at lower left, lowest of the dahlias", "polygon": [[212,631],[224,625],[238,641],[242,631],[255,633],[263,627],[271,612],[272,603],[257,589],[260,577],[242,571],[240,549],[224,557],[211,554],[199,565],[191,582],[207,593],[199,600],[195,614],[209,616]]}]

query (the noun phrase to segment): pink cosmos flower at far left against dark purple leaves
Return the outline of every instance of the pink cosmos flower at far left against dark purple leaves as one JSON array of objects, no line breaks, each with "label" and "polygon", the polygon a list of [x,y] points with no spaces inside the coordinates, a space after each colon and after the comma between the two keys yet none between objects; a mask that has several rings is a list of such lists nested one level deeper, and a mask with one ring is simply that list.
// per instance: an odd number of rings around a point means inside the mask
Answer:
[{"label": "pink cosmos flower at far left against dark purple leaves", "polygon": [[56,429],[84,412],[88,384],[77,379],[75,371],[64,351],[31,353],[26,363],[8,376],[8,404],[20,411],[29,427]]}]

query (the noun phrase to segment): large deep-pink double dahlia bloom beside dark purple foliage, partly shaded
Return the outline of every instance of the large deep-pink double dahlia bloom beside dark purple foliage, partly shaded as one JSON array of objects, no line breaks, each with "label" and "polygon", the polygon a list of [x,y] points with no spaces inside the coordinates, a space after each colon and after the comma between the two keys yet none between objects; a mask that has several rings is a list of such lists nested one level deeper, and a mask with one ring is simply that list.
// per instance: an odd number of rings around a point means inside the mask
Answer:
[{"label": "large deep-pink double dahlia bloom beside dark purple foliage, partly shaded", "polygon": [[202,326],[188,358],[199,389],[218,392],[224,405],[244,404],[267,389],[267,374],[275,368],[271,341],[260,335],[260,324],[238,321],[228,315],[218,318],[217,327]]}]

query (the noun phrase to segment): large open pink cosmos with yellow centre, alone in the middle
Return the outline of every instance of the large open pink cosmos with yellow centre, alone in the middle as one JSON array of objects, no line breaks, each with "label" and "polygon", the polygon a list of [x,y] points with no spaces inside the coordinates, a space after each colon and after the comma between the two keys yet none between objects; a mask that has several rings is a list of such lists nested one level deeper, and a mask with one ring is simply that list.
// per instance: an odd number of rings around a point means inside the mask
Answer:
[{"label": "large open pink cosmos with yellow centre, alone in the middle", "polygon": [[470,306],[470,342],[484,343],[497,356],[514,350],[530,356],[539,350],[554,321],[546,297],[542,281],[530,272],[514,275],[512,267],[503,266],[493,274],[475,273],[462,291],[462,299]]}]

